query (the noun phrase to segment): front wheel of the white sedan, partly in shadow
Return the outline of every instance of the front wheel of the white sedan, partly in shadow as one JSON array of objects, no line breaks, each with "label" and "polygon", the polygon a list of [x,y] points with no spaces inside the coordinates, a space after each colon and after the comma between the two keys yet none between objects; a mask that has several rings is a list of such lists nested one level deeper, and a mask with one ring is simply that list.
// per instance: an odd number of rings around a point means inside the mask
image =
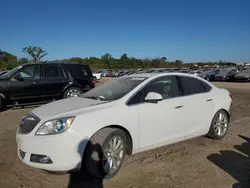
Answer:
[{"label": "front wheel of the white sedan, partly in shadow", "polygon": [[117,174],[126,154],[126,135],[115,128],[98,131],[89,141],[83,164],[90,175],[110,179]]}]

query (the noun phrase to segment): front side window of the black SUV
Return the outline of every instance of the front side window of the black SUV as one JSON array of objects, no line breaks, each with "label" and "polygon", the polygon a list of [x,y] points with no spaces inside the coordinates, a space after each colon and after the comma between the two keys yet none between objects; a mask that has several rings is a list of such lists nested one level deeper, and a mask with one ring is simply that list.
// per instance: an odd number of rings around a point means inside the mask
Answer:
[{"label": "front side window of the black SUV", "polygon": [[24,66],[19,74],[23,79],[40,78],[40,65]]}]

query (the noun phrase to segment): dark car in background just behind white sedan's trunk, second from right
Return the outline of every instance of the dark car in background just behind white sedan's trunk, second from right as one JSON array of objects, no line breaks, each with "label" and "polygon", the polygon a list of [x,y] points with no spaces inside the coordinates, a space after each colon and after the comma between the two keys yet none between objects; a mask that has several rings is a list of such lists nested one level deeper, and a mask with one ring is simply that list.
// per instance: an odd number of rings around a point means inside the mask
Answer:
[{"label": "dark car in background just behind white sedan's trunk, second from right", "polygon": [[217,75],[214,76],[215,81],[233,81],[234,76],[239,71],[236,68],[225,68],[222,69]]}]

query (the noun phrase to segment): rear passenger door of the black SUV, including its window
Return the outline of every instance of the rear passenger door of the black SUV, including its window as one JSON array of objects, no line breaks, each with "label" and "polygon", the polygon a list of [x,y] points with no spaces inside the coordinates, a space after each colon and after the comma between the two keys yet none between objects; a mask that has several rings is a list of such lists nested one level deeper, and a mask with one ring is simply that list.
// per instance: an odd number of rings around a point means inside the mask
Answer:
[{"label": "rear passenger door of the black SUV, including its window", "polygon": [[61,96],[67,85],[67,79],[60,64],[43,64],[42,77],[39,82],[43,95],[46,98]]}]

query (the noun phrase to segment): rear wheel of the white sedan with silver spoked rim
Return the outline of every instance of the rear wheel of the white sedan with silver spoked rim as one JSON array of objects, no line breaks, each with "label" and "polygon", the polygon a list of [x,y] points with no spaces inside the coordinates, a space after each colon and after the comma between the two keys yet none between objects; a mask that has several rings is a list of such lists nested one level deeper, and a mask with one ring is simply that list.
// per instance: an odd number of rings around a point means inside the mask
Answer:
[{"label": "rear wheel of the white sedan with silver spoked rim", "polygon": [[222,139],[226,136],[229,128],[229,116],[225,110],[219,110],[213,117],[208,137]]}]

